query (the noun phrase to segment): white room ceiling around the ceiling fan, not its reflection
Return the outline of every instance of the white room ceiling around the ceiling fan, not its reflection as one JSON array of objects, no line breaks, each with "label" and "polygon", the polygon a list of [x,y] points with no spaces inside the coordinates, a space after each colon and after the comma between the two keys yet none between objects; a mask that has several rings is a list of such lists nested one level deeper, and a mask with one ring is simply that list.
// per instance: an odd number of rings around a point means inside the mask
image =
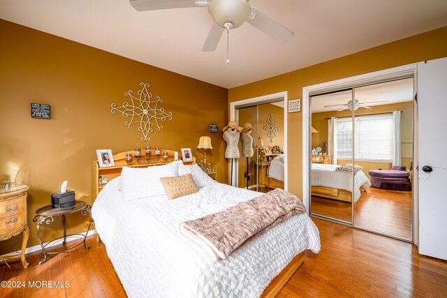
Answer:
[{"label": "white room ceiling around the ceiling fan, not its reflection", "polygon": [[[0,0],[0,17],[221,87],[287,73],[447,26],[446,0],[251,0],[295,32],[277,43],[250,24],[202,52],[207,8],[138,12],[127,0]],[[224,36],[223,36],[224,37]],[[411,50],[411,49],[409,49]]]}]

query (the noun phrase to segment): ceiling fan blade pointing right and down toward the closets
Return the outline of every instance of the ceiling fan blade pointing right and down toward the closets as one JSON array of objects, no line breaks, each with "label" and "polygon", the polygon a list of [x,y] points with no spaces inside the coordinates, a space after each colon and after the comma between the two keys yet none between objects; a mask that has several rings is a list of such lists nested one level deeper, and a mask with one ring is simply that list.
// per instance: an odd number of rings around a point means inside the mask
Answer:
[{"label": "ceiling fan blade pointing right and down toward the closets", "polygon": [[263,31],[274,40],[281,41],[282,43],[284,43],[286,40],[294,35],[292,31],[279,24],[279,22],[268,17],[267,15],[264,15],[256,8],[251,8],[251,13],[247,22],[252,24],[257,29]]}]

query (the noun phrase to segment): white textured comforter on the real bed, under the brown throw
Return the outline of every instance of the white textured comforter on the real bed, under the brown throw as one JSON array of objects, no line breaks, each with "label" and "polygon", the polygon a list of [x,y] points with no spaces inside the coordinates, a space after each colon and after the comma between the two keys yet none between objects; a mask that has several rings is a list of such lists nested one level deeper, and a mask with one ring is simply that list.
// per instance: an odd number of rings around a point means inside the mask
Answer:
[{"label": "white textured comforter on the real bed, under the brown throw", "polygon": [[129,297],[259,297],[274,276],[306,249],[320,251],[307,214],[293,216],[216,262],[179,224],[260,193],[213,182],[198,193],[124,201],[119,177],[91,209],[96,231]]}]

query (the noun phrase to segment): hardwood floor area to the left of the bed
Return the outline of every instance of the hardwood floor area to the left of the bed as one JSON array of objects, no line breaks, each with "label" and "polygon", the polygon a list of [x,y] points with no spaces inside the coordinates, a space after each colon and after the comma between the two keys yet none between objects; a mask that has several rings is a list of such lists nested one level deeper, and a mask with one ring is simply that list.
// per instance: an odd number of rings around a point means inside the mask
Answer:
[{"label": "hardwood floor area to the left of the bed", "polygon": [[[104,244],[97,244],[96,238],[90,236],[87,246],[90,246],[88,251],[79,246],[71,252],[52,255],[43,265],[38,265],[43,254],[31,253],[27,255],[27,269],[11,271],[6,265],[2,265],[1,281],[25,281],[26,287],[0,287],[0,297],[126,297]],[[20,267],[20,262],[11,265],[13,268],[15,266]],[[29,281],[68,281],[70,286],[30,288]]]}]

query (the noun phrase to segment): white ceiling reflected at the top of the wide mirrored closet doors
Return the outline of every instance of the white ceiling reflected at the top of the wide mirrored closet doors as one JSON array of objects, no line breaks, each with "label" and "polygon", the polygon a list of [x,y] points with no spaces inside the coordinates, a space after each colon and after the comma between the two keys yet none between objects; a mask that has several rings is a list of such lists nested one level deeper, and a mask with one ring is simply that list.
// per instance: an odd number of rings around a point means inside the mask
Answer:
[{"label": "white ceiling reflected at the top of the wide mirrored closet doors", "polygon": [[[355,89],[355,96],[360,103],[368,103],[367,106],[391,105],[413,100],[413,78],[373,84]],[[352,99],[351,91],[340,91],[331,94],[312,96],[312,113],[335,111],[339,107],[324,107],[325,105],[342,105]],[[372,103],[383,101],[382,103]]]}]

